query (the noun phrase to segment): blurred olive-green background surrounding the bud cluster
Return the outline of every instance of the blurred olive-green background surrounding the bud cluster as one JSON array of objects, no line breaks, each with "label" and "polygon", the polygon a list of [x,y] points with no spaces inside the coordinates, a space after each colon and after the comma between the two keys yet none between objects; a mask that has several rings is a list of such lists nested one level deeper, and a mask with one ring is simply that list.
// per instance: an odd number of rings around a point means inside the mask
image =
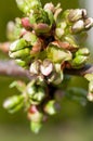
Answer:
[{"label": "blurred olive-green background surrounding the bud cluster", "polygon": [[[41,0],[42,3],[50,0]],[[85,8],[90,16],[93,16],[92,0],[51,0],[55,4],[62,3],[63,9]],[[5,26],[11,20],[23,14],[17,9],[15,0],[0,0],[0,42],[6,40]],[[93,52],[93,29],[89,33],[84,46]],[[90,63],[93,63],[91,53]],[[0,59],[6,56],[0,52]],[[62,110],[58,114],[50,117],[39,134],[30,132],[29,123],[23,111],[10,115],[2,107],[4,99],[16,94],[16,89],[10,89],[10,84],[15,78],[0,76],[0,141],[93,141],[93,103],[85,101],[62,100]],[[88,90],[88,82],[83,78],[72,77],[68,87],[79,87]],[[87,104],[85,104],[87,103]]]}]

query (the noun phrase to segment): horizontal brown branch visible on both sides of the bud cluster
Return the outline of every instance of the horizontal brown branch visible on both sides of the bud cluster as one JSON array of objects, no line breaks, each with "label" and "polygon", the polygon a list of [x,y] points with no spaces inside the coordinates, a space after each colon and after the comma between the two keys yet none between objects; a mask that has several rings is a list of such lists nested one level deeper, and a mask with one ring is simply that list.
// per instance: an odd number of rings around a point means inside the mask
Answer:
[{"label": "horizontal brown branch visible on both sides of the bud cluster", "polygon": [[[85,74],[93,73],[93,65],[85,65],[80,69],[65,69],[65,74],[75,76],[84,76]],[[29,80],[35,79],[36,76],[31,76],[30,73],[19,66],[17,66],[14,61],[0,61],[0,75],[12,76],[12,77],[24,77]]]}]

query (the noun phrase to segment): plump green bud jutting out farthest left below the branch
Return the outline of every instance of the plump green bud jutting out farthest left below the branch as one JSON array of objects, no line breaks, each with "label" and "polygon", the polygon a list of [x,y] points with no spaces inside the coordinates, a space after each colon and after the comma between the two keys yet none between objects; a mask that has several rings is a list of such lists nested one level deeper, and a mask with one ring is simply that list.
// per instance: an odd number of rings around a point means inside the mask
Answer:
[{"label": "plump green bud jutting out farthest left below the branch", "polygon": [[9,113],[15,113],[23,107],[23,95],[14,95],[9,98],[4,103],[3,107],[9,111]]}]

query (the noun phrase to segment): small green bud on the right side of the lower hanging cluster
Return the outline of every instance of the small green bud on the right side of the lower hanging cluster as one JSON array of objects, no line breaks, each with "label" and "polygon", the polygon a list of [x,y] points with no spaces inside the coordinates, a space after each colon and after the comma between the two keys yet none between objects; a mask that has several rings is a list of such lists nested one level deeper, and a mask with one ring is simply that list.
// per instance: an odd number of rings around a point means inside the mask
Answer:
[{"label": "small green bud on the right side of the lower hanging cluster", "polygon": [[44,106],[44,112],[49,115],[54,115],[56,114],[56,105],[55,105],[55,101],[54,100],[51,100],[49,101],[45,106]]}]

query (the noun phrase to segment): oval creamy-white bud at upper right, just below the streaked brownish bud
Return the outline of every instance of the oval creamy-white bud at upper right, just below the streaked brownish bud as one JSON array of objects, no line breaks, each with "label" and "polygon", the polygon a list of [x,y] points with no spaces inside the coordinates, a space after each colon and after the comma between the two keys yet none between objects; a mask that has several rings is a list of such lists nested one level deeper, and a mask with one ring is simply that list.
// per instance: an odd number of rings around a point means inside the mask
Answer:
[{"label": "oval creamy-white bud at upper right, just below the streaked brownish bud", "polygon": [[82,20],[77,21],[71,27],[72,34],[78,34],[83,29],[84,29],[84,22]]}]

